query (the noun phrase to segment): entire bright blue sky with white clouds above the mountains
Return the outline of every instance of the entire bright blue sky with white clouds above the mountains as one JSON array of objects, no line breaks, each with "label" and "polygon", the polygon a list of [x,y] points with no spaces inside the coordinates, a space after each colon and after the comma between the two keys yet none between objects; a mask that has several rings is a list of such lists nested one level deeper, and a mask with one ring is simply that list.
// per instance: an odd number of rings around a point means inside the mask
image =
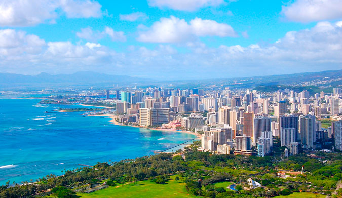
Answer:
[{"label": "entire bright blue sky with white clouds above the mountains", "polygon": [[156,80],[342,69],[342,0],[0,0],[0,72]]}]

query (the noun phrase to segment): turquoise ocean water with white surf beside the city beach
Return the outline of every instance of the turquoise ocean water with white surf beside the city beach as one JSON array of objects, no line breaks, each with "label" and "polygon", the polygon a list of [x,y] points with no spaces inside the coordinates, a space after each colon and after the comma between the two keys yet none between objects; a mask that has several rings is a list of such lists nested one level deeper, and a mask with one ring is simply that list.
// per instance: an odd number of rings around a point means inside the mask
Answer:
[{"label": "turquoise ocean water with white surf beside the city beach", "polygon": [[[39,105],[37,99],[0,99],[0,185],[35,181],[62,170],[153,154],[195,138],[109,123],[83,112],[56,112],[79,105]],[[44,113],[49,111],[49,113]]]}]

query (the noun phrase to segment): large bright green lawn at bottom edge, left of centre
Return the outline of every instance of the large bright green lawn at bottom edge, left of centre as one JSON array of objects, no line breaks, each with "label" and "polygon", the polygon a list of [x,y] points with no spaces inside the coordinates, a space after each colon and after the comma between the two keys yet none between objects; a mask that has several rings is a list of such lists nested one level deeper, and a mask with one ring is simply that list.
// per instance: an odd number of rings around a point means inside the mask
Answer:
[{"label": "large bright green lawn at bottom edge, left of centre", "polygon": [[190,195],[185,189],[185,183],[176,182],[176,176],[171,176],[167,184],[156,184],[151,181],[139,181],[134,186],[113,186],[93,193],[78,193],[82,198],[114,198],[114,197],[196,197]]}]

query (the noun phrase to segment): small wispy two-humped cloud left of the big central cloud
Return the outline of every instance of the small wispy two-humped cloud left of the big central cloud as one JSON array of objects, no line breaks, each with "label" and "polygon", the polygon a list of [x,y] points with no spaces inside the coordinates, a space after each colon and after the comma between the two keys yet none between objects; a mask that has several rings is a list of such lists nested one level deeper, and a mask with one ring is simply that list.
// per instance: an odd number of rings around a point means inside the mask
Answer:
[{"label": "small wispy two-humped cloud left of the big central cloud", "polygon": [[90,27],[82,28],[80,32],[76,32],[76,36],[93,42],[103,39],[106,36],[109,36],[112,41],[126,41],[126,36],[123,31],[114,31],[110,27],[105,27],[102,32],[93,31]]}]

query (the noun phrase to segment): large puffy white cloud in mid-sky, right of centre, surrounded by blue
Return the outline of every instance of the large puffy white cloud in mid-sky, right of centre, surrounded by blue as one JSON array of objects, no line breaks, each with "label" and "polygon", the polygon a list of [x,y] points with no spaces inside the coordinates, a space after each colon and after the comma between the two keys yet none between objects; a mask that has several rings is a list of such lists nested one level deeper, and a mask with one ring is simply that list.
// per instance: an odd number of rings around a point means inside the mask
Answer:
[{"label": "large puffy white cloud in mid-sky, right of centre, surrounded by blue", "polygon": [[188,24],[184,19],[171,16],[161,18],[147,31],[139,33],[138,41],[151,43],[178,43],[203,36],[236,37],[234,29],[213,20],[195,18]]}]

